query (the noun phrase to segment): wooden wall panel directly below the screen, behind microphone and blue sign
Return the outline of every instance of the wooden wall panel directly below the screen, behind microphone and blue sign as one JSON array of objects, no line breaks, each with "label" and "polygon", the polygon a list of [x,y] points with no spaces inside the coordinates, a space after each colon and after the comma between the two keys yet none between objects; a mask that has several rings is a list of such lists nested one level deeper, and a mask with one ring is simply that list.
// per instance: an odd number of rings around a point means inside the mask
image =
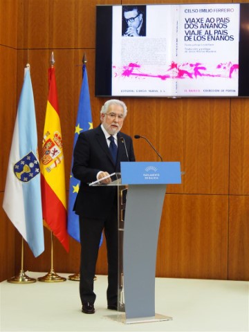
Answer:
[{"label": "wooden wall panel directly below the screen, behind microphone and blue sign", "polygon": [[[168,192],[228,194],[230,100],[123,100],[133,122],[129,133],[147,137],[163,160],[181,161],[183,184]],[[159,160],[145,140],[134,140],[134,147],[138,161]]]}]

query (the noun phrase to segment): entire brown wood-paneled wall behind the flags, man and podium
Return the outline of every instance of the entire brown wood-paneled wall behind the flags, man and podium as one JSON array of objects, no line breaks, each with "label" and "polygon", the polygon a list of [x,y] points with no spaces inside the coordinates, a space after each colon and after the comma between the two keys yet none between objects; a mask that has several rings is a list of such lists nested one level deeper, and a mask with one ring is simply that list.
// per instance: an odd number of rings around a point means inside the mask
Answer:
[{"label": "entire brown wood-paneled wall behind the flags, man and podium", "polygon": [[[66,179],[69,178],[82,56],[88,59],[93,126],[102,103],[95,98],[95,5],[134,1],[2,0],[0,1],[1,149],[0,203],[15,123],[24,66],[30,63],[42,145],[50,54],[55,55]],[[184,3],[186,1],[136,1]],[[212,2],[212,1],[196,1]],[[229,2],[229,1],[219,1]],[[232,1],[230,1],[232,2]],[[248,1],[241,1],[248,2]],[[249,102],[229,98],[123,98],[129,109],[124,131],[146,136],[164,160],[181,161],[182,185],[169,185],[158,242],[156,275],[206,279],[249,278]],[[136,158],[157,160],[154,151],[134,141]],[[68,191],[68,181],[67,181]],[[0,279],[21,267],[21,237],[0,208]],[[54,268],[77,273],[80,245],[71,239],[66,253],[55,239]],[[50,232],[45,252],[35,259],[25,243],[24,270],[50,270]],[[107,273],[105,243],[96,273]]]}]

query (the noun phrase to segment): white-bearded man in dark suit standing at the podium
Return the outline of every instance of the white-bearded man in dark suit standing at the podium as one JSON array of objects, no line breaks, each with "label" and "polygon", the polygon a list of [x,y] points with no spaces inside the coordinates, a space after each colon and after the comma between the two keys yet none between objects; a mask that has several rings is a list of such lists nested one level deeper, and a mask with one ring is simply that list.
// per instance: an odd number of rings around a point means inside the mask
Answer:
[{"label": "white-bearded man in dark suit standing at the podium", "polygon": [[[101,179],[120,172],[120,161],[135,160],[131,137],[120,132],[126,116],[124,102],[108,100],[100,111],[102,123],[95,129],[80,133],[74,149],[73,176],[81,181],[74,210],[80,216],[80,298],[83,313],[95,312],[93,278],[103,229],[108,259],[107,307],[118,309],[117,188],[106,185],[89,187],[89,183],[100,180],[107,184],[108,178]],[[112,156],[111,149],[116,156]]]}]

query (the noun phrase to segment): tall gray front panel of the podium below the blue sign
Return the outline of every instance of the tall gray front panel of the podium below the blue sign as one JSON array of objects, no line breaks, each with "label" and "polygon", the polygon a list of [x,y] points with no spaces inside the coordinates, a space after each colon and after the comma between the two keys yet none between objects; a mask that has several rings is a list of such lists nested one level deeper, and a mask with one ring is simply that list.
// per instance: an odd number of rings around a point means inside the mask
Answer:
[{"label": "tall gray front panel of the podium below the blue sign", "polygon": [[127,320],[155,316],[156,250],[166,185],[129,185],[123,270]]}]

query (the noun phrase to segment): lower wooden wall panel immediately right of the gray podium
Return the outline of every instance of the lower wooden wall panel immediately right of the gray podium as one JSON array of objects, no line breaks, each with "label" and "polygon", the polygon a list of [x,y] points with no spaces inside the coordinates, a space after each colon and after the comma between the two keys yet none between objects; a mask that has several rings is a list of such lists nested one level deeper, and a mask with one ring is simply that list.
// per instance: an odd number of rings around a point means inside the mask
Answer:
[{"label": "lower wooden wall panel immediately right of the gray podium", "polygon": [[166,194],[156,275],[227,279],[228,196]]}]

